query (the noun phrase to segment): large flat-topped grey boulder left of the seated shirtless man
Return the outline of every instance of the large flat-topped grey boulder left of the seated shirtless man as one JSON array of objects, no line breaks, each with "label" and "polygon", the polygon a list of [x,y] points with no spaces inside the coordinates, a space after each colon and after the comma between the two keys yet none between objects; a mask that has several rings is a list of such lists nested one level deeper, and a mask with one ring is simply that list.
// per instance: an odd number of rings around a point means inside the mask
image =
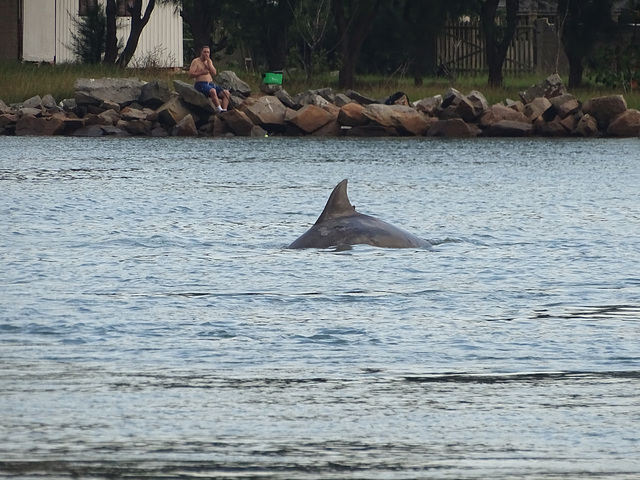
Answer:
[{"label": "large flat-topped grey boulder left of the seated shirtless man", "polygon": [[75,83],[78,105],[100,105],[105,100],[120,107],[138,101],[144,82],[137,78],[79,78]]}]

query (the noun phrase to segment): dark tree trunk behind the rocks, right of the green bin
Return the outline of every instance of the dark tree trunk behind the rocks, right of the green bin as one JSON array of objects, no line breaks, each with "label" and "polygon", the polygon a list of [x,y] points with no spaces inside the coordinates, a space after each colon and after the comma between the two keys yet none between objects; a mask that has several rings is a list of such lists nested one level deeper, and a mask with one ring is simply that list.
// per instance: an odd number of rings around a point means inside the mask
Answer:
[{"label": "dark tree trunk behind the rocks, right of the green bin", "polygon": [[358,55],[367,38],[381,0],[332,0],[331,10],[338,30],[341,56],[338,85],[353,88]]}]

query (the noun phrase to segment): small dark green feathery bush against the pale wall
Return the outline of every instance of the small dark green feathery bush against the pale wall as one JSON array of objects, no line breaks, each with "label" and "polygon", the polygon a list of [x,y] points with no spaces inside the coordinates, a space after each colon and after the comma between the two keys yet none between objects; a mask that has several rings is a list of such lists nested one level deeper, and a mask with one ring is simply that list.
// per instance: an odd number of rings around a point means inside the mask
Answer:
[{"label": "small dark green feathery bush against the pale wall", "polygon": [[96,4],[87,11],[87,16],[79,19],[71,16],[77,34],[71,32],[71,50],[81,63],[96,64],[102,60],[107,42],[107,16],[103,8]]}]

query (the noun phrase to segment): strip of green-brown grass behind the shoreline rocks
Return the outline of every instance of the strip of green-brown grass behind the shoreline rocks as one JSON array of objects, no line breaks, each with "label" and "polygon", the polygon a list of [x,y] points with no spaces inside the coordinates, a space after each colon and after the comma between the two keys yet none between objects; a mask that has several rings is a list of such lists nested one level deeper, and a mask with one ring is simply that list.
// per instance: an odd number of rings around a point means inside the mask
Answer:
[{"label": "strip of green-brown grass behind the shoreline rocks", "polygon": [[[223,66],[219,67],[224,70]],[[257,92],[261,82],[258,72],[245,72],[236,69],[240,78],[247,82],[252,91]],[[74,85],[78,78],[101,77],[138,77],[144,81],[164,80],[172,86],[172,80],[191,82],[185,72],[173,72],[162,69],[121,69],[105,65],[82,64],[21,64],[17,62],[0,62],[0,100],[7,104],[19,103],[35,95],[51,94],[60,101],[74,96]],[[458,77],[454,82],[443,78],[425,78],[422,86],[415,86],[413,80],[406,77],[359,76],[354,90],[371,98],[382,99],[402,91],[411,101],[433,95],[443,94],[449,87],[460,90],[463,94],[471,90],[478,90],[484,94],[490,104],[502,102],[507,98],[518,100],[518,92],[544,79],[540,76],[507,77],[501,88],[490,88],[486,76]],[[566,81],[566,79],[565,79]],[[335,74],[317,75],[312,82],[307,82],[304,76],[286,73],[284,87],[292,95],[312,88],[331,87],[338,89],[338,77]],[[622,89],[608,89],[603,86],[585,85],[571,92],[578,99],[586,101],[589,98],[610,94],[623,94],[629,108],[640,110],[640,92],[627,92]]]}]

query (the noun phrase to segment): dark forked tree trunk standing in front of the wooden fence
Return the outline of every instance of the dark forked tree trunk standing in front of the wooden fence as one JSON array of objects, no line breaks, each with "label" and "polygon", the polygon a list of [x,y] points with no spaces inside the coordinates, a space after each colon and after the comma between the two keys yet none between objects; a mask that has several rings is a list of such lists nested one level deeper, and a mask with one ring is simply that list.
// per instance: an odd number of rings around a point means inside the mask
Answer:
[{"label": "dark forked tree trunk standing in front of the wooden fence", "polygon": [[489,85],[501,87],[502,67],[507,58],[509,45],[516,33],[520,0],[506,0],[506,25],[499,23],[499,0],[483,0],[479,5],[480,25],[485,40],[485,54],[489,68]]}]

